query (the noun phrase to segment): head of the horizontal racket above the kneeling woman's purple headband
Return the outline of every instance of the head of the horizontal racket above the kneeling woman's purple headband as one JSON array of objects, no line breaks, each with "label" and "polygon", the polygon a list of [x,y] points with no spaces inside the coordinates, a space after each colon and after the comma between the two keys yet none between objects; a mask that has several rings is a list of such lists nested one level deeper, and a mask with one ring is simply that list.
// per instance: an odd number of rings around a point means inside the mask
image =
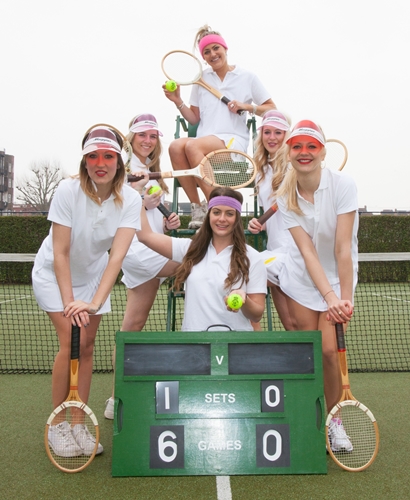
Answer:
[{"label": "head of the horizontal racket above the kneeling woman's purple headband", "polygon": [[256,177],[253,159],[243,151],[218,149],[207,154],[200,163],[201,176],[210,186],[241,189]]}]

